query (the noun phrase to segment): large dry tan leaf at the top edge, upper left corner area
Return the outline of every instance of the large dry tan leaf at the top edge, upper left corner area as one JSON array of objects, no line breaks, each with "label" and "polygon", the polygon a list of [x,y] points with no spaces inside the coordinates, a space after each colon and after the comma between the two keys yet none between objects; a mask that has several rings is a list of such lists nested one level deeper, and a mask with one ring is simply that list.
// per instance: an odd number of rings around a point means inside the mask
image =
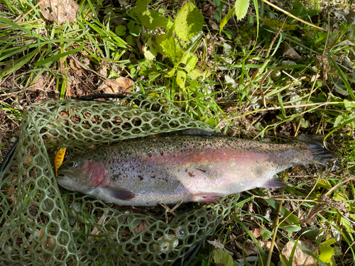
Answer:
[{"label": "large dry tan leaf at the top edge, upper left corner area", "polygon": [[45,0],[40,3],[40,12],[48,19],[60,24],[77,20],[79,4],[74,0]]}]

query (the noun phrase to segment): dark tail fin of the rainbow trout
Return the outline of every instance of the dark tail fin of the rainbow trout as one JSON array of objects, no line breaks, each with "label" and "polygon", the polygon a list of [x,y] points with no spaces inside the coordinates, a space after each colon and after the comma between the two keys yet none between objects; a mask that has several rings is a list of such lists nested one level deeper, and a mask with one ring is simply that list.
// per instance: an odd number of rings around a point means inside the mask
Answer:
[{"label": "dark tail fin of the rainbow trout", "polygon": [[323,145],[323,135],[299,135],[295,141],[307,148],[312,155],[312,161],[317,167],[327,167],[328,163],[337,160],[337,156]]}]

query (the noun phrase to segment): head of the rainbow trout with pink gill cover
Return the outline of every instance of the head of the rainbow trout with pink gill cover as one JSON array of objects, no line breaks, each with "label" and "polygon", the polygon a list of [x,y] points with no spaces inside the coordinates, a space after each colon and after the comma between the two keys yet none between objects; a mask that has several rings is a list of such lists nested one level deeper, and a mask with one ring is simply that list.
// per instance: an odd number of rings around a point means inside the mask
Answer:
[{"label": "head of the rainbow trout with pink gill cover", "polygon": [[72,158],[60,165],[58,184],[71,191],[89,193],[96,187],[109,182],[107,166],[104,162],[93,160],[92,157]]}]

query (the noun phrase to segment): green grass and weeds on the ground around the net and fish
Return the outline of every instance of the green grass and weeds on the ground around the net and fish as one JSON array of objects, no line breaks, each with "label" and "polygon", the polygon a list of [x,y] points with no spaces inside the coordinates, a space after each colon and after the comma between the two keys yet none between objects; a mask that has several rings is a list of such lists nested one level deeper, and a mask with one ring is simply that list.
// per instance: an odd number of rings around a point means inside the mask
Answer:
[{"label": "green grass and weeds on the ground around the net and fish", "polygon": [[[212,19],[219,24],[225,16],[224,2],[214,2]],[[192,118],[229,135],[280,142],[300,133],[323,134],[332,150],[339,153],[341,166],[337,171],[285,173],[288,187],[275,192],[277,199],[267,190],[244,192],[241,204],[210,239],[224,243],[226,250],[236,249],[235,241],[244,245],[246,240],[253,240],[260,265],[280,261],[281,265],[290,265],[279,250],[301,238],[319,247],[322,258],[330,255],[330,265],[354,261],[355,189],[351,177],[355,164],[355,77],[343,66],[343,60],[348,57],[354,65],[355,51],[342,43],[355,42],[354,26],[335,18],[332,31],[320,31],[259,2],[261,13],[252,6],[243,20],[231,18],[220,35],[205,16],[202,33],[189,41],[178,38],[181,33],[172,28],[182,2],[153,2],[148,5],[151,13],[109,3],[80,1],[77,21],[57,25],[43,19],[32,1],[3,1],[0,111],[5,111],[6,118],[1,127],[11,130],[9,134],[18,130],[17,120],[21,120],[23,111],[18,105],[26,108],[40,91],[45,92],[43,99],[99,93],[96,84],[100,78],[95,73],[106,65],[107,78],[129,77],[135,82],[133,92],[165,96]],[[198,7],[207,4],[199,1]],[[288,11],[310,24],[319,14],[317,26],[327,29],[327,13],[321,12],[319,4],[302,6],[295,1]],[[228,11],[228,4],[226,8]],[[268,22],[267,16],[279,18],[281,23]],[[280,25],[297,28],[280,31]],[[284,57],[285,43],[300,57]],[[81,69],[84,76],[73,70],[70,60],[74,59],[87,67]],[[226,80],[226,75],[233,81]],[[47,79],[45,87],[26,91],[41,76]],[[3,137],[4,143],[8,137]],[[344,179],[349,181],[337,187]],[[327,194],[333,187],[336,189]],[[324,195],[327,208],[316,211],[311,221],[303,221],[312,208],[320,206],[320,196]],[[339,209],[339,204],[345,204],[345,208]],[[267,208],[273,216],[266,216]],[[264,239],[274,247],[270,253],[261,248],[258,240],[262,237],[251,231],[260,227],[272,233]],[[307,236],[312,228],[322,234],[317,238]],[[327,245],[337,233],[337,242]],[[215,265],[212,250],[212,245],[206,245],[195,265]]]}]

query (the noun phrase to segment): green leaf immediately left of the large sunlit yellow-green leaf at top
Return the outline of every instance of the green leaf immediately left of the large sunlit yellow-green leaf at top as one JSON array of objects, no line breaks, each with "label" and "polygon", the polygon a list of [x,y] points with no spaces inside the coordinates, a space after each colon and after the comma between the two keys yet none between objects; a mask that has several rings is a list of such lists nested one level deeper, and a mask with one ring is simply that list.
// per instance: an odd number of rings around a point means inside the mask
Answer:
[{"label": "green leaf immediately left of the large sunlit yellow-green leaf at top", "polygon": [[144,11],[143,13],[139,14],[137,17],[141,21],[143,26],[151,30],[155,30],[156,28],[160,27],[169,30],[171,26],[173,26],[173,22],[171,22],[170,18],[161,16],[160,13],[153,9],[148,9],[147,11]]}]

